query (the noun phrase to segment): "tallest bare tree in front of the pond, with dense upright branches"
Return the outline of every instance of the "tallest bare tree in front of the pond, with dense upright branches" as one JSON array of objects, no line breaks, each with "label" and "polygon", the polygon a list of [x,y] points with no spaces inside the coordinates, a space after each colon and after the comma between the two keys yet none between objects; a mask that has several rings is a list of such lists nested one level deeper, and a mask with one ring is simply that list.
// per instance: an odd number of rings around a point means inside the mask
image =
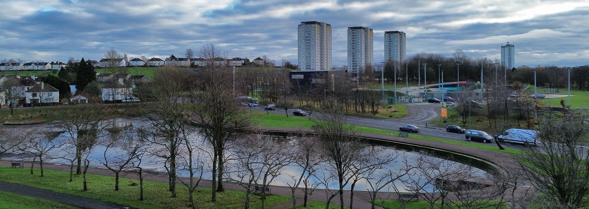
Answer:
[{"label": "tallest bare tree in front of the pond, with dense upright branches", "polygon": [[217,191],[224,191],[223,174],[226,163],[225,151],[227,141],[239,136],[249,127],[249,114],[243,113],[237,96],[233,93],[232,70],[215,65],[214,58],[220,53],[214,46],[206,45],[200,51],[200,57],[208,62],[199,72],[200,91],[193,93],[197,102],[194,106],[193,120],[200,124],[201,134],[213,148],[213,189],[211,201],[216,201]]}]

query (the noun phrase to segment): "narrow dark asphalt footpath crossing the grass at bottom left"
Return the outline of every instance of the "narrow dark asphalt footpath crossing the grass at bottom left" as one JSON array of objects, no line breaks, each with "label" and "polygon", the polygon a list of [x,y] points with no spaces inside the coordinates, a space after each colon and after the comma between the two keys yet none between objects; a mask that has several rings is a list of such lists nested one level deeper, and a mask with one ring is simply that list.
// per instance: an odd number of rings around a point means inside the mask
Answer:
[{"label": "narrow dark asphalt footpath crossing the grass at bottom left", "polygon": [[124,205],[107,203],[100,200],[94,200],[91,198],[80,197],[71,194],[58,193],[55,191],[44,190],[42,188],[29,187],[21,184],[11,184],[0,181],[0,190],[7,191],[9,193],[25,195],[29,197],[37,197],[45,200],[51,200],[58,203],[72,205],[79,208],[88,209],[121,209],[131,208]]}]

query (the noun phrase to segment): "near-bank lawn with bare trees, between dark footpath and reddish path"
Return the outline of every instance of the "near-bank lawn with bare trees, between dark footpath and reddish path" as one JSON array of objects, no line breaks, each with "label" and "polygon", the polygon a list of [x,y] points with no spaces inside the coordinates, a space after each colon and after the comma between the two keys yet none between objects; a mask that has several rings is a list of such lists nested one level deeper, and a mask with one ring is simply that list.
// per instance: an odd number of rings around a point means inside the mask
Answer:
[{"label": "near-bank lawn with bare trees, between dark footpath and reddish path", "polygon": [[[82,192],[82,176],[74,176],[74,181],[69,182],[70,173],[63,171],[45,170],[45,177],[39,177],[39,170],[35,174],[28,173],[28,169],[16,169],[0,167],[0,181],[23,184],[31,187],[44,188],[88,197],[135,208],[188,208],[188,191],[185,186],[177,186],[176,198],[171,198],[168,192],[168,184],[144,181],[144,201],[139,201],[139,186],[130,186],[129,178],[120,178],[120,190],[114,191],[114,177],[88,174],[88,188]],[[197,188],[194,191],[194,203],[197,208],[243,208],[244,196],[242,191],[226,190],[217,193],[217,203],[211,203],[211,190],[209,188]],[[280,195],[266,197],[266,206],[289,201],[291,198]],[[252,197],[252,208],[260,208],[262,202],[257,196]]]}]

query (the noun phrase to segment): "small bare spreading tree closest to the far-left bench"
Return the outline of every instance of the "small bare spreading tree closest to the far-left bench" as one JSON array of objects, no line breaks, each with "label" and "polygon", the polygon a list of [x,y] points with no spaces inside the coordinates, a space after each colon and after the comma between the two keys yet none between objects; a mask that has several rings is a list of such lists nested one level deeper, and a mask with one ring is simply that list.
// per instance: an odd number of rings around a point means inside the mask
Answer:
[{"label": "small bare spreading tree closest to the far-left bench", "polygon": [[52,154],[55,154],[51,153],[51,151],[54,149],[58,149],[59,147],[62,147],[65,144],[65,141],[56,138],[58,135],[59,133],[55,132],[46,132],[41,134],[29,132],[27,133],[27,137],[29,137],[29,139],[25,143],[20,144],[20,146],[18,147],[19,150],[31,153],[33,156],[35,156],[35,159],[39,159],[41,176],[44,176],[43,160],[51,159]]}]

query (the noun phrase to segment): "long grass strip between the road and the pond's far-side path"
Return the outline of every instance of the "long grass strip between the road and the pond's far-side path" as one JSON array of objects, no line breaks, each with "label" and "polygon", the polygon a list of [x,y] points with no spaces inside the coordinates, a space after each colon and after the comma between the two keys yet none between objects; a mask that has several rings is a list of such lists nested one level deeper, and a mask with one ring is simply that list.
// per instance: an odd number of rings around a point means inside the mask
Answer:
[{"label": "long grass strip between the road and the pond's far-side path", "polygon": [[[284,116],[284,114],[273,114],[273,113],[266,114],[266,113],[262,113],[262,112],[252,112],[252,114],[253,114],[252,123],[256,126],[290,127],[290,128],[310,129],[313,126],[313,124],[315,124],[313,122],[313,120],[309,120],[309,117],[302,117],[302,116],[286,117],[286,116]],[[399,132],[396,132],[393,130],[375,129],[375,128],[371,128],[371,127],[362,127],[362,126],[356,126],[356,131],[362,132],[362,133],[375,133],[375,134],[384,134],[384,135],[391,135],[392,134],[395,136],[397,136],[399,134]],[[522,153],[521,150],[516,150],[516,149],[499,150],[499,148],[497,146],[495,146],[495,144],[489,145],[489,144],[468,142],[466,140],[458,141],[458,140],[451,140],[451,139],[438,139],[435,137],[429,137],[429,136],[423,136],[423,135],[411,134],[411,133],[409,134],[409,138],[426,140],[426,141],[438,141],[438,142],[447,143],[447,144],[456,144],[459,146],[473,147],[473,148],[483,149],[483,150],[499,151],[499,152],[503,152],[503,153],[511,153],[511,154],[521,154]]]}]

